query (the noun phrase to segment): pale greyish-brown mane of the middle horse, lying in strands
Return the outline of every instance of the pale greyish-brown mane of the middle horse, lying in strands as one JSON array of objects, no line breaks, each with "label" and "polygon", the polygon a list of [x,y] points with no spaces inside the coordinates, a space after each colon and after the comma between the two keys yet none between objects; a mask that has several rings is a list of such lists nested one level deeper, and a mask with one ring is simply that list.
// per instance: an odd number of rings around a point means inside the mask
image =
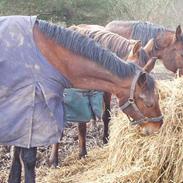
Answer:
[{"label": "pale greyish-brown mane of the middle horse, lying in strands", "polygon": [[132,42],[118,34],[106,30],[89,30],[78,26],[71,26],[69,29],[77,31],[82,35],[92,38],[102,47],[110,49],[120,58],[125,58],[131,50]]}]

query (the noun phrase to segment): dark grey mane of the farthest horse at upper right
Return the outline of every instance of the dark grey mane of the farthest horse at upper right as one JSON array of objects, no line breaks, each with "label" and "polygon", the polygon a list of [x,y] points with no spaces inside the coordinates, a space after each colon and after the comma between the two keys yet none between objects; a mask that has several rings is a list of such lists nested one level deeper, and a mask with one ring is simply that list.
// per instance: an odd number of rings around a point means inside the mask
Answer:
[{"label": "dark grey mane of the farthest horse at upper right", "polygon": [[135,21],[132,23],[132,33],[131,38],[136,40],[141,40],[142,45],[145,44],[151,38],[156,38],[159,33],[171,31],[166,29],[163,26],[156,25],[150,22],[143,22],[143,21]]}]

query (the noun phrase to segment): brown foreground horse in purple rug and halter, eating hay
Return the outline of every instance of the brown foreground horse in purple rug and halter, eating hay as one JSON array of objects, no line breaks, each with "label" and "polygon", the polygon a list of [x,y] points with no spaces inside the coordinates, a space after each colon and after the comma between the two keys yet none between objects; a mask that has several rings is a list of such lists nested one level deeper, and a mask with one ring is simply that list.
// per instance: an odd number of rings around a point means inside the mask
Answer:
[{"label": "brown foreground horse in purple rug and halter, eating hay", "polygon": [[0,144],[14,145],[9,183],[35,182],[38,146],[60,141],[63,89],[113,93],[145,134],[162,123],[155,80],[95,41],[36,16],[0,17]]}]

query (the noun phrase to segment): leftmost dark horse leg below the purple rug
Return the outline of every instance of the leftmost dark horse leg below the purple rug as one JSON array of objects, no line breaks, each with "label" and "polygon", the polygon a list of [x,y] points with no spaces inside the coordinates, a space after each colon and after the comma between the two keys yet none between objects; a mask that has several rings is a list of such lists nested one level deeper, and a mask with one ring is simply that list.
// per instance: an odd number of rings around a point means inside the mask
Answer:
[{"label": "leftmost dark horse leg below the purple rug", "polygon": [[14,147],[8,183],[20,183],[21,182],[22,166],[21,166],[21,162],[20,162],[20,149],[21,149],[20,147]]}]

